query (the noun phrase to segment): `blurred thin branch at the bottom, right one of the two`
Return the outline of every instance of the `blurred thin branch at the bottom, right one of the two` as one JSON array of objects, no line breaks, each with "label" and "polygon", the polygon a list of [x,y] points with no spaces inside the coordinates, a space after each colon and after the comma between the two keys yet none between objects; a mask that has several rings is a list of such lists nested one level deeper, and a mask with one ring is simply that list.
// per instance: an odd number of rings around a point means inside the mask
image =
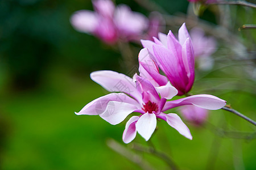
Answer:
[{"label": "blurred thin branch at the bottom, right one of the two", "polygon": [[147,148],[142,145],[136,145],[133,143],[131,148],[133,148],[134,150],[137,150],[137,151],[146,152],[148,154],[155,155],[158,158],[162,159],[164,162],[166,162],[171,169],[173,169],[173,170],[178,169],[176,164],[174,163],[174,161],[168,155],[164,154],[163,152],[155,150],[154,147]]}]

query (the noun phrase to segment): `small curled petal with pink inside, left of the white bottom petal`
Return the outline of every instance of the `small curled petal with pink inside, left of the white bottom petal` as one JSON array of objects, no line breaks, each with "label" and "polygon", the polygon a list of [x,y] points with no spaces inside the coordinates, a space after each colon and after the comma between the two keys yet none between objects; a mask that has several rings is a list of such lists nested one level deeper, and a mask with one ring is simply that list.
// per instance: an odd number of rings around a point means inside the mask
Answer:
[{"label": "small curled petal with pink inside, left of the white bottom petal", "polygon": [[139,116],[133,116],[127,121],[125,125],[125,131],[123,131],[123,142],[130,143],[136,137],[136,122],[139,120]]}]

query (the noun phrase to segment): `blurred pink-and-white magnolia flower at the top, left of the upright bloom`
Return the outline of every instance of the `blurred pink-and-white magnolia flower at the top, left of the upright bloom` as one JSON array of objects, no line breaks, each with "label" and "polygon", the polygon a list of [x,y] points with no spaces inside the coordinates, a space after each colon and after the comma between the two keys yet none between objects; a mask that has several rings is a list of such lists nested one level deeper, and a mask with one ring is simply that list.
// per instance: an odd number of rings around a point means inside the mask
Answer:
[{"label": "blurred pink-and-white magnolia flower at the top, left of the upright bloom", "polygon": [[94,0],[95,12],[76,11],[71,23],[77,31],[91,33],[102,41],[113,44],[118,39],[131,40],[148,27],[147,18],[139,12],[131,11],[129,6],[114,6],[110,0]]}]

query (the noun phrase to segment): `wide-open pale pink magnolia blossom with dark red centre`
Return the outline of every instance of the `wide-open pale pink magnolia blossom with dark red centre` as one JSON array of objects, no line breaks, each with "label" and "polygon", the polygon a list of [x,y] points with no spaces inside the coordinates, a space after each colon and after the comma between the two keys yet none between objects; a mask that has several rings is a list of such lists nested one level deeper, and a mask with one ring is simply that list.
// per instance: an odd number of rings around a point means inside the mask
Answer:
[{"label": "wide-open pale pink magnolia blossom with dark red centre", "polygon": [[[147,49],[143,49],[144,52],[145,50]],[[143,51],[140,54],[144,53]],[[134,79],[131,79],[114,71],[96,71],[90,74],[90,77],[113,93],[91,101],[76,114],[99,115],[110,124],[116,125],[133,112],[141,113],[127,121],[123,132],[125,143],[133,141],[137,132],[148,141],[156,128],[156,118],[167,121],[181,135],[192,139],[189,129],[177,114],[163,112],[182,105],[195,105],[215,110],[226,104],[226,101],[212,95],[194,95],[167,101],[177,95],[176,88],[171,86],[170,82],[155,87],[150,80],[137,74],[134,75]]]}]

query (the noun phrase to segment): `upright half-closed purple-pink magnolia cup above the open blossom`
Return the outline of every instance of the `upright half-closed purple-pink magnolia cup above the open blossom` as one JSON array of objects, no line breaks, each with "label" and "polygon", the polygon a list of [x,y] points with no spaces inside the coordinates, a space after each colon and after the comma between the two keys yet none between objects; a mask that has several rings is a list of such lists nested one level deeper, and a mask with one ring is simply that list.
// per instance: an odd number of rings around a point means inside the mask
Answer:
[{"label": "upright half-closed purple-pink magnolia cup above the open blossom", "polygon": [[141,43],[178,90],[177,95],[184,95],[191,90],[195,79],[194,52],[185,23],[179,29],[179,41],[171,30],[168,35],[159,33],[158,37],[159,40],[154,37],[154,42],[141,40]]}]

